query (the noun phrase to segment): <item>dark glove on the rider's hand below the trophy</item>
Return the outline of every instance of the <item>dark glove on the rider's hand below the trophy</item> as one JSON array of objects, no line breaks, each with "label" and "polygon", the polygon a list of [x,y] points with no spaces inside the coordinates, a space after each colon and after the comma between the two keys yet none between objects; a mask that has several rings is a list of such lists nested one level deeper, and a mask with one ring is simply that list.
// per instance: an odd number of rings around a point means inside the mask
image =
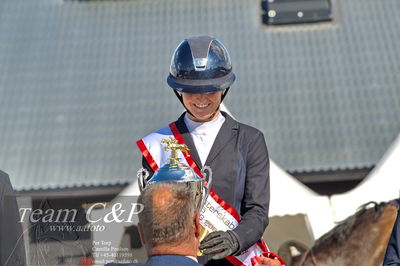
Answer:
[{"label": "dark glove on the rider's hand below the trophy", "polygon": [[232,231],[216,231],[201,241],[199,249],[204,255],[214,255],[213,260],[223,259],[239,250],[239,240]]}]

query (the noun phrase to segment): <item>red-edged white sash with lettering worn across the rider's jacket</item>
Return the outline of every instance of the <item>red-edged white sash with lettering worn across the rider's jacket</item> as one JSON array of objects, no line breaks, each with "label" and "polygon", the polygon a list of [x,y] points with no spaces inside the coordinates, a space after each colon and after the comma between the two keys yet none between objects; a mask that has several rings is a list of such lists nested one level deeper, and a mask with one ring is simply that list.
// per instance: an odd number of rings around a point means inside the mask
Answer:
[{"label": "red-edged white sash with lettering worn across the rider's jacket", "polygon": [[[170,152],[163,149],[161,146],[161,140],[170,136],[173,136],[178,140],[179,144],[185,144],[185,141],[175,123],[171,123],[136,142],[139,150],[146,158],[153,171],[157,171],[160,166],[168,163]],[[187,164],[196,172],[196,174],[203,177],[190,152],[179,152],[179,158],[182,163]],[[238,226],[239,221],[240,215],[235,208],[220,198],[211,188],[210,196],[207,198],[200,214],[200,224],[209,232],[214,232],[219,230],[232,230]],[[252,265],[251,259],[255,256],[260,256],[265,252],[269,252],[269,249],[264,240],[261,239],[240,255],[229,256],[226,257],[226,259],[235,266]]]}]

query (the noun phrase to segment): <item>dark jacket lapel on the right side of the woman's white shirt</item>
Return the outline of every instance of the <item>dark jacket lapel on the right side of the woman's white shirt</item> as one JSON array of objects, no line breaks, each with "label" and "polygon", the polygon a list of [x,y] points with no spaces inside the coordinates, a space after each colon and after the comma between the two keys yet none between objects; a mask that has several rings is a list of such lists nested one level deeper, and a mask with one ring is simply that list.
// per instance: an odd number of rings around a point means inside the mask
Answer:
[{"label": "dark jacket lapel on the right side of the woman's white shirt", "polygon": [[239,129],[238,122],[230,117],[227,113],[222,111],[221,113],[225,117],[225,122],[219,130],[217,137],[215,138],[214,144],[211,147],[210,153],[208,154],[205,163],[206,165],[211,165],[211,162],[228,144],[228,142],[231,141],[235,136],[237,136],[237,131]]}]

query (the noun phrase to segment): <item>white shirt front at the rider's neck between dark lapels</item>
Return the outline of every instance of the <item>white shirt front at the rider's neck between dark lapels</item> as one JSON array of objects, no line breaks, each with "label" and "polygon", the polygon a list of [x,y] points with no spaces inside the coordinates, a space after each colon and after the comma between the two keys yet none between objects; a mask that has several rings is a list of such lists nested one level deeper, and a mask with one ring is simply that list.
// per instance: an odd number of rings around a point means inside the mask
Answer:
[{"label": "white shirt front at the rider's neck between dark lapels", "polygon": [[214,144],[215,138],[217,137],[222,124],[225,122],[225,117],[219,113],[215,119],[209,122],[195,122],[190,120],[186,114],[184,121],[190,135],[192,135],[201,164],[204,165],[211,147]]}]

